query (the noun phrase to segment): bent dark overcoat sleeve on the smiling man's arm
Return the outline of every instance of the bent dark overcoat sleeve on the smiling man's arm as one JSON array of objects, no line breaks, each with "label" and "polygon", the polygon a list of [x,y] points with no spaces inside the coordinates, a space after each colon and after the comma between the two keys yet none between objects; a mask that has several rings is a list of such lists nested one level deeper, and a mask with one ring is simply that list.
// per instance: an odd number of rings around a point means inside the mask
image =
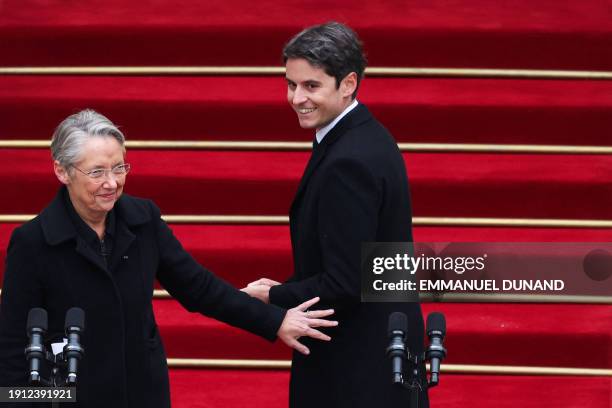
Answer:
[{"label": "bent dark overcoat sleeve on the smiling man's arm", "polygon": [[293,307],[315,296],[321,307],[343,309],[361,299],[361,243],[374,241],[382,187],[358,160],[334,162],[323,175],[317,209],[321,271],[273,286],[270,302]]}]

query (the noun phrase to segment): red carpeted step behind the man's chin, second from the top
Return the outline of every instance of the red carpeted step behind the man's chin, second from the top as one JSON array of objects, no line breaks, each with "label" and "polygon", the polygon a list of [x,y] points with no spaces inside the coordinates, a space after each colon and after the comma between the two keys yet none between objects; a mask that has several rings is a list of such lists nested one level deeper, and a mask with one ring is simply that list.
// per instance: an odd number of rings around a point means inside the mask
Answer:
[{"label": "red carpeted step behind the man's chin, second from the top", "polygon": [[[367,78],[359,100],[399,142],[612,143],[612,81]],[[305,141],[313,133],[299,128],[282,76],[0,76],[2,139],[50,139],[85,108],[128,140]]]}]

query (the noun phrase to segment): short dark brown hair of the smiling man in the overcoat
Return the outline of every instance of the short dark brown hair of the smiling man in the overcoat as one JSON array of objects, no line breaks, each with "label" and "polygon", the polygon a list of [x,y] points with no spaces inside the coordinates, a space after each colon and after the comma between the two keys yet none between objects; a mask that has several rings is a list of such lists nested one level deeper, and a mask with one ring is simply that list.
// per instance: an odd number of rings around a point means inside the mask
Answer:
[{"label": "short dark brown hair of the smiling man in the overcoat", "polygon": [[357,34],[335,21],[309,27],[289,40],[283,49],[283,62],[292,58],[304,58],[313,66],[322,68],[327,75],[336,78],[336,88],[348,74],[355,72],[357,88],[353,99],[368,63]]}]

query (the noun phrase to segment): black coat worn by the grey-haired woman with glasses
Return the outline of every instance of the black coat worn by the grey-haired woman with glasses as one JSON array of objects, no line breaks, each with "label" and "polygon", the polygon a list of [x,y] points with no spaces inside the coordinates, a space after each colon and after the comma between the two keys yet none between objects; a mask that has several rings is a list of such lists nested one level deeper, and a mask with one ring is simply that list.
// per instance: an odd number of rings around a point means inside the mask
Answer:
[{"label": "black coat worn by the grey-haired woman with glasses", "polygon": [[79,404],[70,406],[168,407],[168,367],[152,308],[156,278],[191,312],[269,340],[276,337],[284,310],[251,298],[200,266],[151,201],[124,194],[116,203],[107,269],[76,233],[66,194],[62,187],[11,237],[0,306],[0,386],[27,381],[28,311],[46,309],[49,334],[61,335],[66,311],[77,306],[86,315],[85,356],[78,373]]}]

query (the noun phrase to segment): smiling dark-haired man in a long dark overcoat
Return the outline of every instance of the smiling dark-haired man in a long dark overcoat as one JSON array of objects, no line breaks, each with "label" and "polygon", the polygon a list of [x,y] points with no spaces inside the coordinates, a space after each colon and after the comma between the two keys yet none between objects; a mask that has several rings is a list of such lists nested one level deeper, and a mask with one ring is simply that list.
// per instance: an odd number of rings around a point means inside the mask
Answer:
[{"label": "smiling dark-haired man in a long dark overcoat", "polygon": [[[348,27],[308,28],[283,51],[287,99],[300,126],[316,130],[313,154],[290,210],[294,275],[243,291],[283,307],[320,296],[339,326],[333,340],[294,353],[290,406],[407,407],[410,394],[391,383],[387,321],[408,316],[408,346],[423,349],[418,303],[360,303],[362,242],[412,241],[406,168],[393,137],[356,100],[366,59]],[[428,405],[426,391],[420,406]]]}]

